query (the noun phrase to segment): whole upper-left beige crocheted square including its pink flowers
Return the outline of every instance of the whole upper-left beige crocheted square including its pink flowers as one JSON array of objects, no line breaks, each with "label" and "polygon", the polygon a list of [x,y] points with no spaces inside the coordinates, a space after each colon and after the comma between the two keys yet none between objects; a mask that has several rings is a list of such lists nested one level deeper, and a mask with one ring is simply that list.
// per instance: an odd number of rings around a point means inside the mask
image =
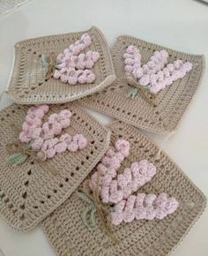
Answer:
[{"label": "whole upper-left beige crocheted square including its pink flowers", "polygon": [[19,104],[71,102],[114,79],[108,43],[92,27],[17,42],[8,94]]}]

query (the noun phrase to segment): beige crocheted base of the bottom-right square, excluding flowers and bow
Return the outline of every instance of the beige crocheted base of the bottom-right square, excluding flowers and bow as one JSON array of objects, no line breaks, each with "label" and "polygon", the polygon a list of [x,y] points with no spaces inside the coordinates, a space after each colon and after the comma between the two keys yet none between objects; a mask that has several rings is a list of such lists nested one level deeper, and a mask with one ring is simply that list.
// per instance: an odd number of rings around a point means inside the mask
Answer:
[{"label": "beige crocheted base of the bottom-right square, excluding flowers and bow", "polygon": [[167,255],[182,241],[204,211],[204,194],[167,154],[161,153],[160,159],[155,159],[159,148],[136,128],[121,121],[116,121],[109,127],[112,130],[112,145],[117,139],[130,141],[130,155],[124,160],[121,170],[144,158],[157,168],[151,182],[145,184],[139,192],[167,192],[178,200],[177,210],[163,220],[135,220],[112,226],[113,235],[118,241],[114,244],[103,231],[99,218],[96,218],[94,227],[85,227],[81,214],[85,211],[86,204],[73,192],[71,198],[42,222],[43,229],[59,256]]}]

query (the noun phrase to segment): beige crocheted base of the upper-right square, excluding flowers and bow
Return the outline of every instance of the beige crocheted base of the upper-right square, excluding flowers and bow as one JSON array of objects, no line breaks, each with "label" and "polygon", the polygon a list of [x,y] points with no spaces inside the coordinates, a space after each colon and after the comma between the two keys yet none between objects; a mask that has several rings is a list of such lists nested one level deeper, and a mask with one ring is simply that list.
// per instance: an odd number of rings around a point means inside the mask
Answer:
[{"label": "beige crocheted base of the upper-right square, excluding flowers and bow", "polygon": [[[169,54],[168,63],[173,63],[175,59],[189,61],[192,70],[156,94],[155,105],[149,104],[140,94],[132,99],[128,96],[130,86],[122,79],[125,77],[123,54],[130,45],[139,49],[142,64],[149,60],[155,50],[166,49]],[[200,84],[204,72],[204,56],[185,54],[130,36],[119,36],[112,49],[112,58],[118,79],[101,93],[87,96],[80,102],[150,132],[165,134],[174,131]]]}]

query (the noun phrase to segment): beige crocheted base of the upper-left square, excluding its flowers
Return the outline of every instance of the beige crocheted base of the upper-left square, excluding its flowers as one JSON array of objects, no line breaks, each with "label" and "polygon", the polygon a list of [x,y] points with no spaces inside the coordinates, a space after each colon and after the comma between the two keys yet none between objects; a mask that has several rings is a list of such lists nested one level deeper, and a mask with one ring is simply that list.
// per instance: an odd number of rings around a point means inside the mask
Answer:
[{"label": "beige crocheted base of the upper-left square, excluding its flowers", "polygon": [[[69,85],[52,76],[45,78],[42,55],[54,53],[58,56],[83,34],[89,34],[92,42],[82,52],[93,50],[100,55],[91,69],[95,80],[89,84]],[[85,32],[49,35],[17,42],[8,94],[20,104],[71,102],[107,87],[114,79],[108,43],[100,30],[92,27]]]}]

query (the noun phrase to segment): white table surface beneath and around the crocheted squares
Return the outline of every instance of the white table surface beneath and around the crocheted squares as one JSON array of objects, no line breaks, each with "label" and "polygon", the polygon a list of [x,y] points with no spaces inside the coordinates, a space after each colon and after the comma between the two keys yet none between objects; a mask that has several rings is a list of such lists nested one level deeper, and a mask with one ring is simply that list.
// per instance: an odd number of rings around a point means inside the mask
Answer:
[{"label": "white table surface beneath and around the crocheted squares", "polygon": [[[0,92],[8,84],[16,41],[47,34],[76,32],[91,26],[100,27],[110,46],[118,35],[130,34],[169,48],[204,54],[208,59],[208,6],[205,4],[193,0],[33,0],[0,20]],[[4,96],[0,108],[3,109],[10,102]],[[90,112],[102,124],[108,124],[111,120]],[[164,139],[158,134],[145,133],[159,145]],[[163,148],[208,196],[207,69],[181,126]],[[207,237],[206,208],[204,215],[173,255],[208,255]],[[6,256],[56,255],[41,227],[21,233],[8,228],[1,219],[0,248]]]}]

